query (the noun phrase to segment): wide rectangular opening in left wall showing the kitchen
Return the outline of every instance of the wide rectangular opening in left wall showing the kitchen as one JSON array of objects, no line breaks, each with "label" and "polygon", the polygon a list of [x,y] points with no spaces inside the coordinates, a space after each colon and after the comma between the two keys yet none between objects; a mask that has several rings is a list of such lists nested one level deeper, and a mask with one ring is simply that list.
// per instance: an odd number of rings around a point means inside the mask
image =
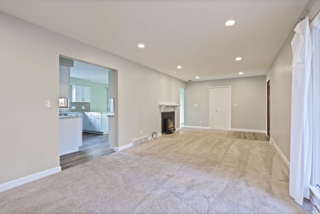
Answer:
[{"label": "wide rectangular opening in left wall showing the kitchen", "polygon": [[[114,93],[113,88],[109,88],[109,85],[114,85],[113,72],[112,68],[59,57],[59,147],[62,170],[114,152],[108,132],[108,117],[114,115]],[[113,127],[110,129],[114,130]]]}]

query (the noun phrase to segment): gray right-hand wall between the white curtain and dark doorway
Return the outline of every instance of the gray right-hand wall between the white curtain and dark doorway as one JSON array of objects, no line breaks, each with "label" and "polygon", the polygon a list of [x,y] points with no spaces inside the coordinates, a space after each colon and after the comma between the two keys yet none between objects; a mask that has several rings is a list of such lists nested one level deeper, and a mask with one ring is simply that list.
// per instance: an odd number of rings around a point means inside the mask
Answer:
[{"label": "gray right-hand wall between the white curtain and dark doorway", "polygon": [[290,161],[292,31],[266,74],[270,79],[270,137]]}]

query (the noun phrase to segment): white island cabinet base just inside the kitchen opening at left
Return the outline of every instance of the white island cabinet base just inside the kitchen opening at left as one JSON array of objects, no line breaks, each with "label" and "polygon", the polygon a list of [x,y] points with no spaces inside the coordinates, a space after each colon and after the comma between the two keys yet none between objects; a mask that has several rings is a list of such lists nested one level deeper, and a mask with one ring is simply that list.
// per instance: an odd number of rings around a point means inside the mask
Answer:
[{"label": "white island cabinet base just inside the kitchen opening at left", "polygon": [[81,116],[61,116],[59,123],[60,155],[78,151],[82,145]]}]

